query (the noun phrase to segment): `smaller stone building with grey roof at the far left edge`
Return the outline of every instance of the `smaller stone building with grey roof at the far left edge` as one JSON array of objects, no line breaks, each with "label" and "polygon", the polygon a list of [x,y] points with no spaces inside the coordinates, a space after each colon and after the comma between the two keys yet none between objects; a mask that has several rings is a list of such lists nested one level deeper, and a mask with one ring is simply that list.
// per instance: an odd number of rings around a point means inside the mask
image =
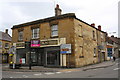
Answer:
[{"label": "smaller stone building with grey roof at the far left edge", "polygon": [[9,56],[9,49],[11,48],[12,37],[8,34],[8,29],[5,32],[0,31],[0,54],[2,63],[9,63],[11,57]]}]

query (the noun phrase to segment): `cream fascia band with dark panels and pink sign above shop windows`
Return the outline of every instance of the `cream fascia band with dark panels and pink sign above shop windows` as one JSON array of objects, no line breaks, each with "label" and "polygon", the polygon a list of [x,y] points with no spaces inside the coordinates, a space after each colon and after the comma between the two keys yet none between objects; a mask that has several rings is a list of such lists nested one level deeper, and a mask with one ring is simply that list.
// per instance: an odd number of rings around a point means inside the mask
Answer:
[{"label": "cream fascia band with dark panels and pink sign above shop windows", "polygon": [[[48,47],[48,46],[60,46],[66,44],[66,38],[54,38],[44,40],[31,40],[30,47]],[[16,49],[25,48],[25,42],[17,42]]]}]

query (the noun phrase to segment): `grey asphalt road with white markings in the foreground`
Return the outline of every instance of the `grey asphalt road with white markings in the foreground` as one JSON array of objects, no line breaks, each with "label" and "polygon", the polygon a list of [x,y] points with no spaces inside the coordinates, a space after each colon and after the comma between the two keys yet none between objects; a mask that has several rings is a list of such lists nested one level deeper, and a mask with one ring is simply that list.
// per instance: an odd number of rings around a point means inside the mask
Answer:
[{"label": "grey asphalt road with white markings in the foreground", "polygon": [[65,72],[11,72],[3,71],[3,78],[118,78],[117,62],[106,68],[90,70],[65,71]]}]

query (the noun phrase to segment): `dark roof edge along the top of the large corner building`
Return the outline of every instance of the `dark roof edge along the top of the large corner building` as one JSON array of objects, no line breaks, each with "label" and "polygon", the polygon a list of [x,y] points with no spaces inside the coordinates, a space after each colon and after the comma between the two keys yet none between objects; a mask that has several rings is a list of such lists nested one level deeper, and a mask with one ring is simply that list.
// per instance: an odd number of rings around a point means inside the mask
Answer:
[{"label": "dark roof edge along the top of the large corner building", "polygon": [[[23,23],[23,24],[19,24],[19,25],[14,25],[11,29],[21,28],[21,27],[30,26],[30,25],[39,24],[39,23],[44,23],[44,22],[50,22],[53,20],[64,19],[64,18],[75,18],[75,19],[85,23],[86,25],[91,26],[90,24],[76,18],[75,13],[67,13],[67,14],[63,14],[63,15],[59,15],[59,16],[53,16],[53,17],[49,17],[49,18],[45,18],[45,19],[39,19],[36,21],[31,21],[31,22],[27,22],[27,23]],[[93,27],[93,26],[91,26],[91,27]],[[93,27],[93,28],[97,29],[96,27]],[[99,29],[97,29],[97,30],[101,31]],[[106,33],[104,31],[101,31],[101,32]]]}]

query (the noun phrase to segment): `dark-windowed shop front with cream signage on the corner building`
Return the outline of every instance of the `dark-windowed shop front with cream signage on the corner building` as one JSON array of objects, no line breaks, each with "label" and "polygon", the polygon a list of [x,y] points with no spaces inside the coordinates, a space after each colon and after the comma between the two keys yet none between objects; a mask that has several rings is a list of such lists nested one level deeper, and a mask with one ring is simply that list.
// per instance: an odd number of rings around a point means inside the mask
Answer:
[{"label": "dark-windowed shop front with cream signage on the corner building", "polygon": [[25,44],[25,42],[21,42],[17,47],[16,63],[28,66],[29,61],[31,61],[32,66],[45,67],[60,67],[62,66],[61,62],[66,63],[64,62],[66,60],[63,61],[63,59],[66,59],[65,54],[60,54],[59,39],[31,40],[30,49],[26,48]]}]

